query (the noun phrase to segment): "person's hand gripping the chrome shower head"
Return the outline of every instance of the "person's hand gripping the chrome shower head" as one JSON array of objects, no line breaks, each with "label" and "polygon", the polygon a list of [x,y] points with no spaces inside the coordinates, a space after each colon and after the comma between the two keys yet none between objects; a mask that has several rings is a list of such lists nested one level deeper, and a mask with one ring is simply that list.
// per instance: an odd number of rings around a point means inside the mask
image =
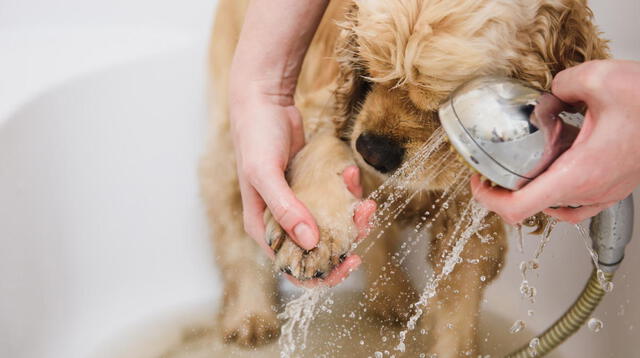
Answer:
[{"label": "person's hand gripping the chrome shower head", "polygon": [[587,105],[572,147],[518,191],[492,188],[477,175],[471,180],[476,200],[510,224],[540,211],[577,223],[640,183],[640,62],[587,62],[560,72],[552,87],[561,100]]}]

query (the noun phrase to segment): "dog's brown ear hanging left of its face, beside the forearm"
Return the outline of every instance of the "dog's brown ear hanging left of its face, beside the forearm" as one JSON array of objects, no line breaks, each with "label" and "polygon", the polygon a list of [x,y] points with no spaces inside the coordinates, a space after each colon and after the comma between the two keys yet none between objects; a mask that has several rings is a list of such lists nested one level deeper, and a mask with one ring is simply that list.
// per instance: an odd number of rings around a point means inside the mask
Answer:
[{"label": "dog's brown ear hanging left of its face, beside the forearm", "polygon": [[339,73],[333,122],[338,138],[345,141],[349,140],[355,117],[371,90],[366,65],[359,56],[358,35],[354,31],[357,11],[354,3],[347,13],[346,21],[339,24],[342,30],[335,48]]}]

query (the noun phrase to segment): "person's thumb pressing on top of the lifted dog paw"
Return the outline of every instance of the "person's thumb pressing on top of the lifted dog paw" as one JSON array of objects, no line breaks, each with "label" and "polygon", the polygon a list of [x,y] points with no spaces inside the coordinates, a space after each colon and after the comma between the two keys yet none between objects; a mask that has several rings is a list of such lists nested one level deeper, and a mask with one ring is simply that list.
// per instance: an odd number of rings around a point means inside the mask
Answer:
[{"label": "person's thumb pressing on top of the lifted dog paw", "polygon": [[315,220],[304,204],[295,197],[284,173],[277,168],[263,169],[253,177],[255,189],[289,237],[305,250],[316,247],[320,234]]}]

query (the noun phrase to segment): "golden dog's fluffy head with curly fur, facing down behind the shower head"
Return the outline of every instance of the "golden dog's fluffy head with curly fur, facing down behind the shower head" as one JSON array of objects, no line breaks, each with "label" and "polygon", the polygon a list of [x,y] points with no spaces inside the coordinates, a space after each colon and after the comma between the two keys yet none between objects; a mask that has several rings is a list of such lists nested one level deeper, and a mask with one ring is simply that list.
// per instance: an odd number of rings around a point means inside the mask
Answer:
[{"label": "golden dog's fluffy head with curly fur, facing down behind the shower head", "polygon": [[[503,75],[549,89],[562,69],[607,57],[583,0],[358,0],[342,26],[336,128],[382,180],[432,136],[440,104],[465,81]],[[444,159],[413,186],[453,184],[461,165]]]}]

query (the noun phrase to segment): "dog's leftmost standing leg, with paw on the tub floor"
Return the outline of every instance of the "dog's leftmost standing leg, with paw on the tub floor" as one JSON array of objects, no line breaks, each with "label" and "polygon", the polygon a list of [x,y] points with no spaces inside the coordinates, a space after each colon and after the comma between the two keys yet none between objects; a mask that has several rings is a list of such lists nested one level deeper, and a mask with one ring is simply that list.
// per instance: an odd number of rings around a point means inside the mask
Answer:
[{"label": "dog's leftmost standing leg, with paw on the tub floor", "polygon": [[212,139],[201,161],[200,185],[224,283],[220,324],[226,341],[253,347],[279,333],[273,309],[276,277],[269,259],[243,229],[230,136],[223,127]]}]

